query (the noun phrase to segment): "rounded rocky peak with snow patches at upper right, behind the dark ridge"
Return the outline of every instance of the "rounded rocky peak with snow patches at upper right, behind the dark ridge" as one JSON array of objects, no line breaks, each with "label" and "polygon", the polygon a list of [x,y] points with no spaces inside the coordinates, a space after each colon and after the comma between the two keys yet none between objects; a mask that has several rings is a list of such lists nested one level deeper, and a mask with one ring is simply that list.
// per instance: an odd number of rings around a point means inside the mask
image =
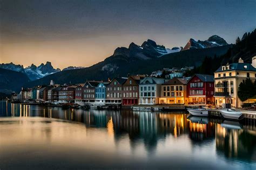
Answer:
[{"label": "rounded rocky peak with snow patches at upper right, behind the dark ridge", "polygon": [[191,38],[183,48],[183,51],[187,49],[211,48],[211,47],[219,47],[224,45],[228,45],[227,42],[223,38],[217,35],[211,36],[205,41],[200,41],[200,40],[196,41]]}]

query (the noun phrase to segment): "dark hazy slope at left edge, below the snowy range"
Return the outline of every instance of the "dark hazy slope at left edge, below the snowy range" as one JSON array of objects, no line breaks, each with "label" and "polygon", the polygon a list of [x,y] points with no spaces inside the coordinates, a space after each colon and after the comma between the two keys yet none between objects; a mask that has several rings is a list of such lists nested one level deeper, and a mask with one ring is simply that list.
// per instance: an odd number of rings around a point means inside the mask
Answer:
[{"label": "dark hazy slope at left edge, below the snowy range", "polygon": [[12,91],[20,91],[29,78],[24,73],[0,68],[0,93],[10,94]]}]

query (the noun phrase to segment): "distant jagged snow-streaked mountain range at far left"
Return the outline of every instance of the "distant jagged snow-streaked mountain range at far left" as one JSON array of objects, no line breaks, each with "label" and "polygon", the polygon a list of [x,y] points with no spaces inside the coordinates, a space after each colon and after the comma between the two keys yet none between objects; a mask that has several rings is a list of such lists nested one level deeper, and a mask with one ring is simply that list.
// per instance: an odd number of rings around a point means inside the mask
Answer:
[{"label": "distant jagged snow-streaked mountain range at far left", "polygon": [[46,62],[45,65],[42,63],[40,66],[31,65],[29,67],[24,68],[22,65],[15,65],[14,63],[2,63],[0,64],[0,68],[9,69],[16,72],[21,72],[26,74],[30,80],[37,80],[46,75],[60,72],[60,69],[53,68],[51,62]]}]

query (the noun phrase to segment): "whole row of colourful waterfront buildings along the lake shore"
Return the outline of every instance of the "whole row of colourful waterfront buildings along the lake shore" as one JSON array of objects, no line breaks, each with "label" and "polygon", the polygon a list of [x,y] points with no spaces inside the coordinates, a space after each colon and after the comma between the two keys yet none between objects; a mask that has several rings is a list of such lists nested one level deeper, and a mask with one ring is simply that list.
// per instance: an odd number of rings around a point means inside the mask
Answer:
[{"label": "whole row of colourful waterfront buildings along the lake shore", "polygon": [[240,108],[242,102],[237,95],[238,87],[242,80],[256,79],[255,62],[256,56],[252,65],[240,59],[238,63],[221,66],[214,76],[195,74],[190,79],[173,77],[170,80],[136,75],[63,86],[51,83],[49,86],[22,89],[20,97],[94,105],[211,104],[220,107],[230,104],[231,107]]}]

